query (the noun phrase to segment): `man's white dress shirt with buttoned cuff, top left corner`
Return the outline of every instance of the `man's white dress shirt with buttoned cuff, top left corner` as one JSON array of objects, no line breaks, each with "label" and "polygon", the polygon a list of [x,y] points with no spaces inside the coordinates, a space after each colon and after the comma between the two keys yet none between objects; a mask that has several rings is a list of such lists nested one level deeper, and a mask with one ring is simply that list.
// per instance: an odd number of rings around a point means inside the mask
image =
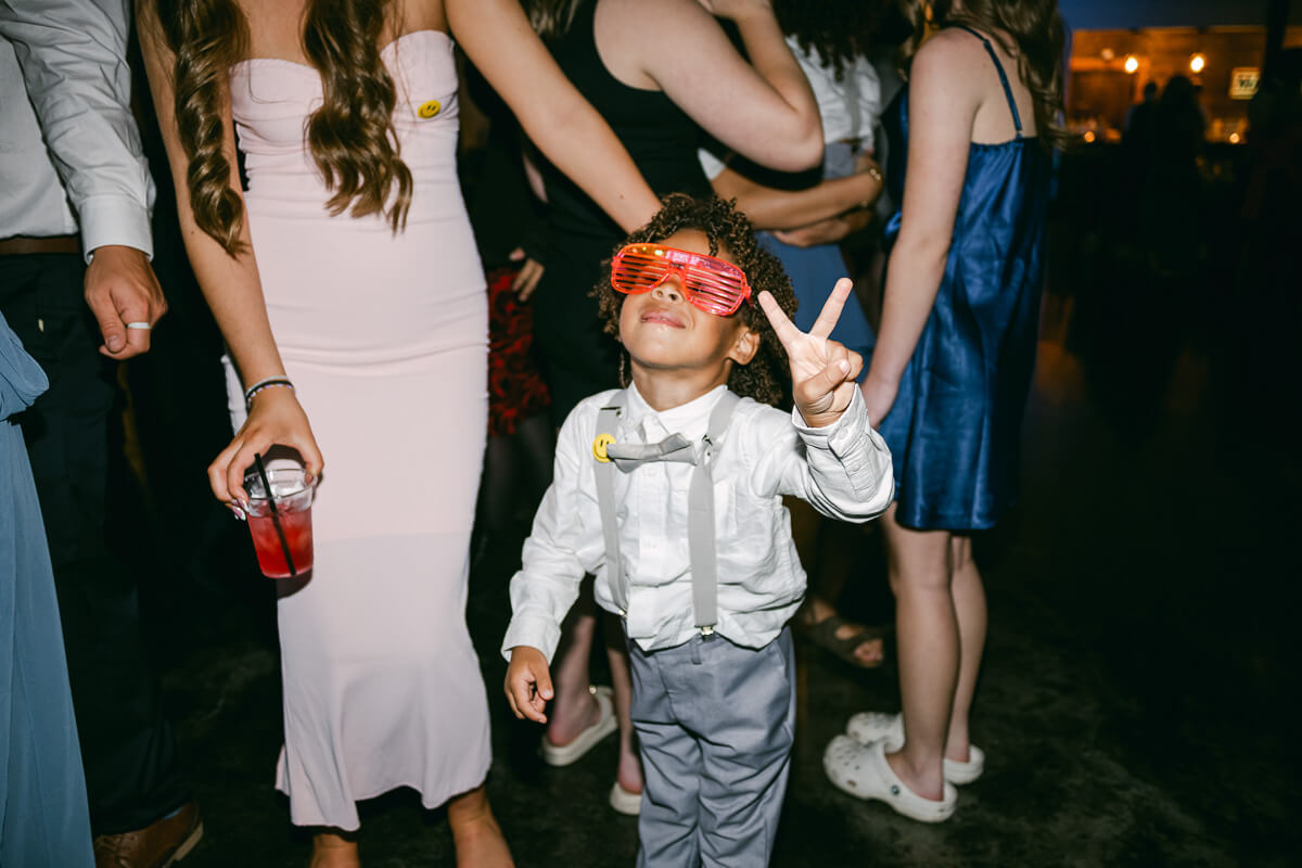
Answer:
[{"label": "man's white dress shirt with buttoned cuff, top left corner", "polygon": [[0,0],[0,239],[81,233],[152,255],[126,0]]}]

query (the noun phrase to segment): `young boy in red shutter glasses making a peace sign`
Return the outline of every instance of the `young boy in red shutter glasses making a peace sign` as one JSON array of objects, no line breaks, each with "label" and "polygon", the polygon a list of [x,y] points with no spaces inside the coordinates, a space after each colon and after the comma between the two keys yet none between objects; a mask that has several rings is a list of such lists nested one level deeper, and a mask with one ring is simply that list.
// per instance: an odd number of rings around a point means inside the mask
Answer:
[{"label": "young boy in red shutter glasses making a peace sign", "polygon": [[[595,574],[629,642],[646,776],[638,865],[766,865],[796,722],[786,622],[805,593],[781,498],[862,522],[894,491],[854,383],[862,359],[827,338],[850,281],[805,334],[746,219],[673,195],[598,292],[631,384],[561,427],[510,583],[506,696],[517,717],[546,722],[560,625]],[[792,414],[767,406],[788,358]]]}]

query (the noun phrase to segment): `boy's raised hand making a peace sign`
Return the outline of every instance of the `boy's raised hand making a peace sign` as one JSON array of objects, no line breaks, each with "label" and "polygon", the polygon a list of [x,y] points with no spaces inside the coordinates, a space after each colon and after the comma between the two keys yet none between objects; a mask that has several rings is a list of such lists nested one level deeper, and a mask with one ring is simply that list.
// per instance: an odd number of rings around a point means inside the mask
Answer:
[{"label": "boy's raised hand making a peace sign", "polygon": [[822,428],[840,419],[858,388],[854,379],[863,368],[863,357],[828,337],[853,289],[854,284],[848,277],[836,281],[809,334],[786,319],[771,294],[759,294],[759,306],[772,323],[777,340],[786,347],[786,358],[792,363],[792,397],[796,407],[805,418],[805,424],[811,428]]}]

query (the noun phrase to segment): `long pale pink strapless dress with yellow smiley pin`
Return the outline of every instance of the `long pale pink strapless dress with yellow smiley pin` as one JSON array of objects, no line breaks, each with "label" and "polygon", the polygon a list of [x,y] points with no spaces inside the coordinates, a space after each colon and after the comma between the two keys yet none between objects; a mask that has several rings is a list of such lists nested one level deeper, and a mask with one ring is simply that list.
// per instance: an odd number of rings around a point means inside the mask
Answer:
[{"label": "long pale pink strapless dress with yellow smiley pin", "polygon": [[[311,582],[279,603],[285,747],[298,825],[357,829],[398,786],[428,807],[488,770],[488,704],[466,630],[470,526],[487,424],[483,272],[457,186],[452,40],[383,49],[414,191],[406,230],[332,216],[305,143],[315,69],[230,70],[253,250],[271,328],[326,457]],[[229,363],[228,363],[229,368]],[[228,373],[238,427],[243,398]]]}]

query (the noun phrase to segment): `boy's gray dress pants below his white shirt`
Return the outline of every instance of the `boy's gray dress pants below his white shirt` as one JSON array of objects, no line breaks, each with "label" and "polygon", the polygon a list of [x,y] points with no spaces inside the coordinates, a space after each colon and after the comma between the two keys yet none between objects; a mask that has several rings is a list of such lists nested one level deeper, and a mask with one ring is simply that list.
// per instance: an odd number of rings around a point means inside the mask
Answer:
[{"label": "boy's gray dress pants below his white shirt", "polygon": [[629,643],[646,789],[639,868],[763,868],[796,730],[790,627],[760,649],[720,635]]}]

